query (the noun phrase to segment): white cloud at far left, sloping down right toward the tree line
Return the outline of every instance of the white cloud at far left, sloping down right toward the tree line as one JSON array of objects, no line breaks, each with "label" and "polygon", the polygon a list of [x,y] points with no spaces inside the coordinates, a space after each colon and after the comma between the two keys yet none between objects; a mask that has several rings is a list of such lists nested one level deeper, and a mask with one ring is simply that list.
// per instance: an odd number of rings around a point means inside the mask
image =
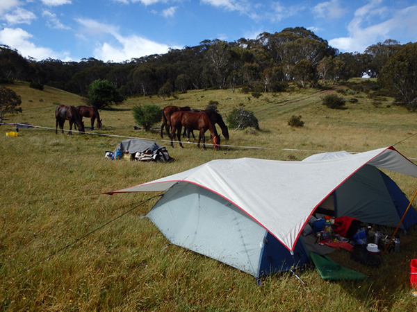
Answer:
[{"label": "white cloud at far left, sloping down right toward the tree line", "polygon": [[67,53],[59,55],[49,48],[36,46],[30,39],[33,37],[30,33],[24,31],[22,28],[3,28],[0,31],[0,42],[13,47],[19,53],[28,57],[31,56],[36,60],[44,60],[46,58],[56,58],[60,60],[70,60]]}]

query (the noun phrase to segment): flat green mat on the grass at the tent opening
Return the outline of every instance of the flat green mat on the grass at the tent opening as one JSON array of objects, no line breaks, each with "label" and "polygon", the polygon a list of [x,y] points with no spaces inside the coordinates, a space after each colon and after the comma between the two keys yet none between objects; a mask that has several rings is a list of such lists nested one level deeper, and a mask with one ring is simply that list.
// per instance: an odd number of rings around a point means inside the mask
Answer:
[{"label": "flat green mat on the grass at the tent opening", "polygon": [[367,275],[344,268],[327,256],[320,256],[310,252],[310,257],[318,272],[320,272],[322,279],[368,279]]}]

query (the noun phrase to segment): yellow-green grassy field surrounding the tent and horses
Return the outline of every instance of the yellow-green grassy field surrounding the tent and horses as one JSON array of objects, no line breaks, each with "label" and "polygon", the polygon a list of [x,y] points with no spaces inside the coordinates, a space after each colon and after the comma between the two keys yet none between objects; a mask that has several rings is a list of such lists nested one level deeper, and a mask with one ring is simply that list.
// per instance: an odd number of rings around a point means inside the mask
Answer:
[{"label": "yellow-green grassy field surrounding the tent and horses", "polygon": [[[302,160],[400,142],[395,148],[416,161],[416,114],[393,105],[391,98],[369,98],[340,87],[347,100],[358,100],[347,102],[345,110],[321,104],[321,97],[334,89],[294,88],[258,99],[229,90],[197,90],[165,101],[129,98],[100,111],[102,130],[69,136],[55,134],[54,111],[58,104],[81,105],[79,96],[49,87],[30,89],[26,83],[6,87],[22,97],[23,113],[7,115],[5,122],[42,128],[21,129],[18,137],[5,135],[13,126],[0,128],[0,311],[416,311],[417,298],[408,286],[409,263],[417,257],[416,229],[401,233],[401,252],[386,254],[379,268],[353,262],[343,251],[330,254],[369,275],[372,283],[328,282],[308,268],[297,271],[305,285],[284,273],[263,278],[259,286],[252,276],[223,263],[175,245],[165,248],[167,239],[142,218],[158,194],[103,194],[211,159]],[[171,148],[159,130],[133,129],[133,105],[204,108],[209,101],[218,101],[224,120],[234,107],[251,110],[261,130],[229,129],[229,141],[222,139],[216,152],[195,144]],[[290,127],[292,115],[302,116],[304,127]],[[157,141],[175,161],[105,159],[105,150],[126,137]],[[413,196],[415,179],[388,174],[408,198]]]}]

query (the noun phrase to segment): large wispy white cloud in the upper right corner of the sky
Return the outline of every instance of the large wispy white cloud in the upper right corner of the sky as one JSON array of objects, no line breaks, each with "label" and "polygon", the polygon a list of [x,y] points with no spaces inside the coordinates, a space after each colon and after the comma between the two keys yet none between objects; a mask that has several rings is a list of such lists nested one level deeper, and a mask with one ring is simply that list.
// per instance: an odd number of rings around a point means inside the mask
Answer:
[{"label": "large wispy white cloud in the upper right corner of the sky", "polygon": [[[390,10],[379,6],[380,0],[372,0],[366,6],[359,8],[352,21],[347,26],[348,37],[329,40],[329,44],[341,51],[362,53],[368,46],[386,39],[397,40],[395,34],[409,31],[416,33],[417,6],[402,10]],[[370,25],[370,22],[379,23]],[[416,36],[415,36],[416,37]]]}]

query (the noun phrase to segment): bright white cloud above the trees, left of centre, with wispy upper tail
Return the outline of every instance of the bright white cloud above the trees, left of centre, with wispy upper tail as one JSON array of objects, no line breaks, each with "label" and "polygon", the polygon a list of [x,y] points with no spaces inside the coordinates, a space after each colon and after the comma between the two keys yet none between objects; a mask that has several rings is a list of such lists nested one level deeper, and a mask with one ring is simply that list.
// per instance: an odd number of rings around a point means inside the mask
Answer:
[{"label": "bright white cloud above the trees, left of centre, with wispy upper tail", "polygon": [[[77,19],[83,26],[81,33],[88,34],[88,40],[96,37],[96,48],[94,57],[99,60],[122,62],[131,58],[140,58],[144,55],[167,53],[170,46],[148,40],[138,35],[123,36],[119,29],[113,25],[102,24],[92,19]],[[111,38],[103,42],[99,41],[100,36],[111,35]],[[173,49],[181,49],[179,46],[172,46]]]}]

